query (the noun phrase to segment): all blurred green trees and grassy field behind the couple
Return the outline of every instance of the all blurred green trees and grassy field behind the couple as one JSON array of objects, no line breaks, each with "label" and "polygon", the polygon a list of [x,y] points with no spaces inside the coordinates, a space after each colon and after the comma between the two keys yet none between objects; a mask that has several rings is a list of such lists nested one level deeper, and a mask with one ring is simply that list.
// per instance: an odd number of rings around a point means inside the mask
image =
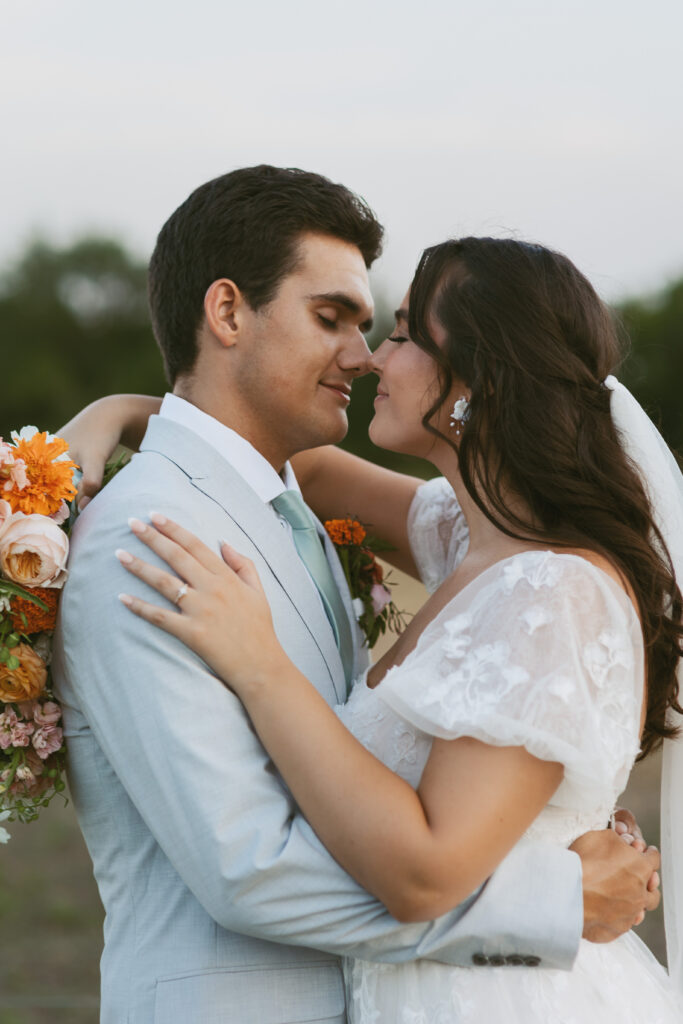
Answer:
[{"label": "all blurred green trees and grassy field behind the couple", "polygon": [[[391,328],[400,296],[379,296],[375,343]],[[621,377],[664,435],[683,447],[683,280],[624,302],[632,343]],[[148,325],[145,268],[115,239],[69,248],[36,241],[0,280],[4,387],[0,436],[36,424],[55,431],[102,394],[161,394],[161,359]],[[368,440],[375,379],[356,383],[347,446],[383,464],[429,475],[430,468]],[[397,574],[395,574],[397,575]],[[395,600],[415,609],[422,589],[401,581]],[[658,842],[658,759],[639,766],[624,798],[646,837]],[[0,1024],[94,1024],[102,912],[71,807],[14,825],[0,847]],[[664,958],[660,914],[640,933]]]}]

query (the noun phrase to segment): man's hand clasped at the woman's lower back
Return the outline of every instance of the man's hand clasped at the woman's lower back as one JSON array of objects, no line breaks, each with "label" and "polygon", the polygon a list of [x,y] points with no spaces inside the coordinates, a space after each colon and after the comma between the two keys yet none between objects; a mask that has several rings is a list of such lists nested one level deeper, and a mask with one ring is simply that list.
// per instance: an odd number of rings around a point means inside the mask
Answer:
[{"label": "man's hand clasped at the woman's lower back", "polygon": [[611,942],[658,905],[659,891],[649,886],[660,864],[655,847],[639,852],[605,829],[580,836],[569,849],[582,862],[585,939]]}]

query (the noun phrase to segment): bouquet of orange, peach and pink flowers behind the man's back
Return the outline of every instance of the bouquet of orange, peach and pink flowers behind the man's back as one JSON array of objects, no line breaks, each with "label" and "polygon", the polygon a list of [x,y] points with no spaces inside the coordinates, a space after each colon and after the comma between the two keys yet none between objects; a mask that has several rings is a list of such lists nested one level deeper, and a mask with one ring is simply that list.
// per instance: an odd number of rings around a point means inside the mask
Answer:
[{"label": "bouquet of orange, peach and pink flowers behind the man's back", "polygon": [[59,437],[11,437],[0,438],[0,821],[34,821],[65,788],[49,665],[78,467]]}]

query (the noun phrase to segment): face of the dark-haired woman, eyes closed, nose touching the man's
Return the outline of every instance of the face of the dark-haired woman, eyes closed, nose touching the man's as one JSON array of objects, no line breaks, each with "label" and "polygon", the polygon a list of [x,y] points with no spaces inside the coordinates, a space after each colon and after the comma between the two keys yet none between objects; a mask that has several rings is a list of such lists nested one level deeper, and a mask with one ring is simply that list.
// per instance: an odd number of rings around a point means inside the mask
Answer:
[{"label": "face of the dark-haired woman, eyes closed, nose touching the man's", "polygon": [[[379,447],[432,458],[437,444],[442,444],[423,425],[422,418],[440,393],[438,371],[432,357],[411,340],[408,330],[410,292],[394,313],[396,325],[391,335],[373,353],[370,369],[379,377],[375,416],[370,424],[370,438]],[[437,345],[445,341],[445,331],[431,317],[429,331]],[[442,434],[457,440],[450,424],[451,410],[456,398],[469,390],[456,381],[451,397],[442,403],[431,424]]]}]

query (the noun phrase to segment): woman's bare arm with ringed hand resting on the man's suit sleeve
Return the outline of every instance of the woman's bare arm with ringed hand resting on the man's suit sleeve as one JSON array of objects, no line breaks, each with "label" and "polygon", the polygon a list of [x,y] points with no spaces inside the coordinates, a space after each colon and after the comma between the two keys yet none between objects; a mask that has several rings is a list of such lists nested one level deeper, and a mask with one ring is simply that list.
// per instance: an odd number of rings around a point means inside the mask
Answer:
[{"label": "woman's bare arm with ringed hand resting on the man's suit sleeve", "polygon": [[176,524],[155,517],[155,525],[131,523],[177,575],[119,557],[170,601],[178,578],[187,581],[181,611],[125,603],[187,643],[238,693],[333,856],[402,922],[430,920],[465,899],[546,805],[562,766],[521,748],[436,740],[416,793],[348,732],[285,654],[252,563],[225,548],[226,566]]}]

